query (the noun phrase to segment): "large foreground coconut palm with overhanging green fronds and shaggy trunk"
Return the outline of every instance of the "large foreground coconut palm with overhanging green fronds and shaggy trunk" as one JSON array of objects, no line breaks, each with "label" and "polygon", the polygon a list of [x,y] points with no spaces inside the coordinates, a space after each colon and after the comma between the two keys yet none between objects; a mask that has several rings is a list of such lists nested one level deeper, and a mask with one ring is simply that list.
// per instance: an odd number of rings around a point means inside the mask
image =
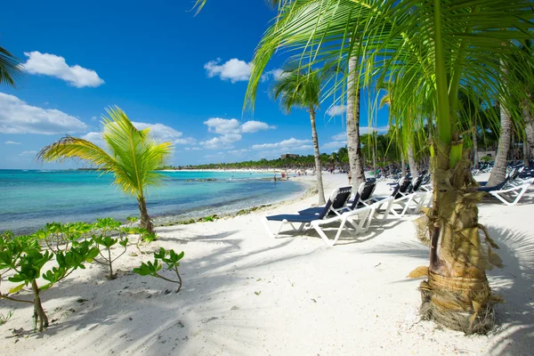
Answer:
[{"label": "large foreground coconut palm with overhanging green fronds and shaggy trunk", "polygon": [[336,77],[330,93],[346,93],[347,77],[358,71],[364,86],[395,85],[399,108],[417,110],[403,120],[429,120],[434,193],[424,227],[430,263],[411,275],[426,278],[424,316],[465,333],[493,325],[498,298],[485,271],[499,261],[495,243],[479,235],[481,194],[463,155],[458,91],[472,87],[486,107],[497,98],[511,102],[510,93],[501,90],[500,62],[524,57],[516,44],[532,36],[533,19],[527,0],[287,0],[252,61],[248,109],[254,109],[263,70],[275,52],[294,53],[301,69],[324,61],[346,68],[357,42],[365,61]]}]

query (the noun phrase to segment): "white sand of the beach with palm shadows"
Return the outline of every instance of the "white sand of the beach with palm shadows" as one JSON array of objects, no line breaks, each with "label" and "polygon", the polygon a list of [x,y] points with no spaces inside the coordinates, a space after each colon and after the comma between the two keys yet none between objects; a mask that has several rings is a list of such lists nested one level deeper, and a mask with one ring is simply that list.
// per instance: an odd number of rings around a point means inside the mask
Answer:
[{"label": "white sand of the beach with palm shadows", "polygon": [[[310,176],[300,178],[312,180]],[[481,177],[483,179],[483,177]],[[325,174],[326,190],[346,184]],[[384,182],[376,194],[388,194]],[[409,271],[428,262],[413,217],[390,221],[327,247],[311,231],[272,239],[265,214],[294,213],[304,198],[214,223],[158,229],[158,247],[184,250],[179,294],[161,279],[129,271],[148,255],[123,256],[108,281],[98,265],[77,271],[43,295],[51,327],[31,332],[31,306],[0,327],[0,355],[531,355],[534,353],[534,206],[481,204],[506,267],[490,284],[506,303],[490,336],[464,336],[420,321],[419,280]],[[134,252],[134,247],[131,248]],[[8,283],[3,283],[3,290]],[[28,292],[24,292],[28,296]],[[87,299],[77,303],[77,299]],[[28,304],[29,305],[29,304]],[[13,328],[24,328],[20,336]]]}]

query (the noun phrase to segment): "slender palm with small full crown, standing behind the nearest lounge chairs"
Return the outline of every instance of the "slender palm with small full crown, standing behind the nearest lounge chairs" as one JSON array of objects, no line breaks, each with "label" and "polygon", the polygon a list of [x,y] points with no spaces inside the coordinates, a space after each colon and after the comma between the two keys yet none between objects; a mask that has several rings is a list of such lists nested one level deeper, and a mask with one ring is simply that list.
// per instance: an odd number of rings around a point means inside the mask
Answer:
[{"label": "slender palm with small full crown, standing behind the nearest lounge chairs", "polygon": [[319,109],[320,88],[324,73],[320,69],[286,69],[272,88],[274,99],[280,99],[280,106],[287,114],[294,107],[307,109],[310,113],[313,154],[315,156],[315,172],[317,174],[317,190],[319,190],[320,205],[325,204],[326,200],[322,183],[319,140],[315,128],[315,113]]}]

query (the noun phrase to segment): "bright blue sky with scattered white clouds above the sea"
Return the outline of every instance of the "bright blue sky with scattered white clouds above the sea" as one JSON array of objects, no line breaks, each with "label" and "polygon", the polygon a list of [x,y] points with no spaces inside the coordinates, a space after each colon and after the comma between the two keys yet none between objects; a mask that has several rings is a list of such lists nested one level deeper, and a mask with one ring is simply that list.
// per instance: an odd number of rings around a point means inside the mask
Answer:
[{"label": "bright blue sky with scattered white clouds above the sea", "polygon": [[[269,65],[254,116],[241,114],[248,62],[275,12],[261,0],[214,0],[194,16],[193,3],[4,4],[0,46],[25,64],[25,75],[17,89],[0,87],[0,169],[79,166],[34,158],[64,134],[100,142],[110,105],[174,142],[176,166],[312,154],[308,113],[284,115],[268,95],[284,57]],[[317,120],[327,153],[344,144],[344,118],[327,115],[331,105],[322,104]],[[377,126],[386,117],[381,110]]]}]

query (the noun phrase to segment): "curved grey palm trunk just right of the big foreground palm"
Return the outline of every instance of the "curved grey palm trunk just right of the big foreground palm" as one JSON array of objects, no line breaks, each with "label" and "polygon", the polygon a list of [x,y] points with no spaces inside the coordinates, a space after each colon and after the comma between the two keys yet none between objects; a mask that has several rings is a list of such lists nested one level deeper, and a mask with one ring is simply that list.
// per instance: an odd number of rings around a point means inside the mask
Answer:
[{"label": "curved grey palm trunk just right of the big foreground palm", "polygon": [[510,136],[512,133],[512,117],[508,114],[504,103],[500,105],[500,134],[498,137],[498,149],[495,156],[495,165],[491,168],[490,179],[487,186],[493,187],[503,182],[506,178],[506,166],[508,165],[508,150],[510,150]]}]

